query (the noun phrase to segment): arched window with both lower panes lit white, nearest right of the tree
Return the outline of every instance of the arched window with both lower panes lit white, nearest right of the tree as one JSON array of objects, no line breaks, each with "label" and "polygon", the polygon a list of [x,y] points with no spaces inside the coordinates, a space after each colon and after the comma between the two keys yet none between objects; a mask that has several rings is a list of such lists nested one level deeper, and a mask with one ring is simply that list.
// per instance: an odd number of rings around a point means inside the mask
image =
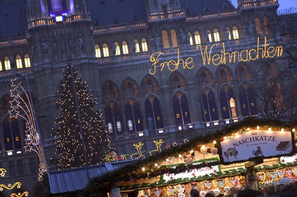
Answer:
[{"label": "arched window with both lower panes lit white, nearest right of the tree", "polygon": [[123,134],[121,109],[117,103],[110,102],[105,106],[105,118],[109,135]]}]

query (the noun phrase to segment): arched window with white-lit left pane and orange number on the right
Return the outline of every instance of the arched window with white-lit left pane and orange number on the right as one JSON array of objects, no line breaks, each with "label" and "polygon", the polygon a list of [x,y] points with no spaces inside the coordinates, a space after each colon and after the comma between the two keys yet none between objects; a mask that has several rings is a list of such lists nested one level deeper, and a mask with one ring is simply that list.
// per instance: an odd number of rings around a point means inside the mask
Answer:
[{"label": "arched window with white-lit left pane and orange number on the right", "polygon": [[130,101],[125,104],[125,116],[128,132],[139,132],[144,130],[139,102],[130,99]]}]

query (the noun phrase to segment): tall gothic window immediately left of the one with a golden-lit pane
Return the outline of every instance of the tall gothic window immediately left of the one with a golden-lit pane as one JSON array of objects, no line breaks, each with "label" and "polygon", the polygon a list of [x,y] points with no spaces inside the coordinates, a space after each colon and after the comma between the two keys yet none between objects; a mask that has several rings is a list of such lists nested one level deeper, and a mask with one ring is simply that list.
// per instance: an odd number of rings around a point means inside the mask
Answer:
[{"label": "tall gothic window immediately left of the one with a golden-lit pane", "polygon": [[209,89],[201,92],[201,112],[203,121],[217,121],[219,119],[214,93]]}]

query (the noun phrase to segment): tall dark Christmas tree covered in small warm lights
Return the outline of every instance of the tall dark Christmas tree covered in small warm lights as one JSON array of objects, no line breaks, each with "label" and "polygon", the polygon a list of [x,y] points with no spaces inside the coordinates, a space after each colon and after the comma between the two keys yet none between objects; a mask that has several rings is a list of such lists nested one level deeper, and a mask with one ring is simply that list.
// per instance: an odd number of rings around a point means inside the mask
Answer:
[{"label": "tall dark Christmas tree covered in small warm lights", "polygon": [[[73,72],[76,88],[79,114],[84,137],[88,165],[95,165],[104,161],[104,155],[110,153],[110,140],[101,120],[99,111],[94,111],[96,100],[88,94],[88,86],[82,77]],[[75,93],[71,78],[71,66],[63,70],[63,79],[58,86],[57,108],[61,111],[56,118],[57,129],[53,129],[56,153],[54,160],[59,169],[81,167],[85,165],[82,136],[80,134],[79,118]]]}]

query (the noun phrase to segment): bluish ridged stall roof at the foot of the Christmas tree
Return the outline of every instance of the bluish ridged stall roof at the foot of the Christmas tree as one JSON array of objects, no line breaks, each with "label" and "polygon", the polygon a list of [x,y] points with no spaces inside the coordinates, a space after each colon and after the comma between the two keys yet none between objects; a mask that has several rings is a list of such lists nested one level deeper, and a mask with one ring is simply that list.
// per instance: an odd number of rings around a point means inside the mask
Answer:
[{"label": "bluish ridged stall roof at the foot of the Christmas tree", "polygon": [[[106,172],[114,171],[134,161],[136,160],[91,165],[88,167],[90,178],[100,177]],[[86,187],[87,183],[88,178],[86,167],[49,172],[49,186],[51,194],[82,190]]]}]

